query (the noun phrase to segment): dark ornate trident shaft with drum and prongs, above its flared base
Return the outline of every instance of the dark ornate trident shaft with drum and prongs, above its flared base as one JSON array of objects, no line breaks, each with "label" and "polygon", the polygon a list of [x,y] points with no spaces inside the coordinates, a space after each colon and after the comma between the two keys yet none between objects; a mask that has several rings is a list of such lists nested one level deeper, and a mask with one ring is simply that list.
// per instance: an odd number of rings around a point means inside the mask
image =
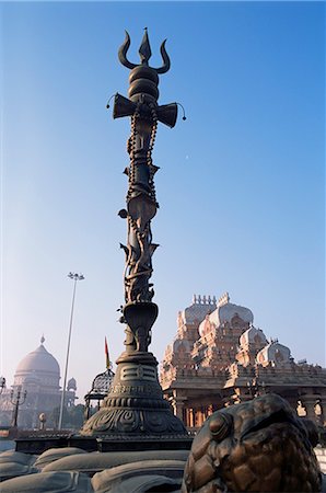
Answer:
[{"label": "dark ornate trident shaft with drum and prongs, above its flared base", "polygon": [[[163,66],[149,66],[151,47],[147,30],[139,48],[141,64],[131,64],[127,59],[130,37],[119,49],[120,62],[131,69],[129,76],[129,99],[115,95],[114,118],[131,116],[131,135],[127,150],[130,164],[128,175],[127,209],[119,216],[128,221],[128,242],[121,244],[126,253],[125,301],[121,322],[127,322],[127,352],[147,352],[151,341],[151,326],[158,316],[158,307],[152,303],[154,296],[152,276],[152,255],[158,244],[152,242],[151,220],[156,214],[154,174],[159,170],[152,162],[158,121],[173,127],[177,117],[177,104],[158,105],[159,76],[170,68],[170,58],[165,50],[165,41],[161,46]],[[137,320],[136,320],[136,319]]]}]

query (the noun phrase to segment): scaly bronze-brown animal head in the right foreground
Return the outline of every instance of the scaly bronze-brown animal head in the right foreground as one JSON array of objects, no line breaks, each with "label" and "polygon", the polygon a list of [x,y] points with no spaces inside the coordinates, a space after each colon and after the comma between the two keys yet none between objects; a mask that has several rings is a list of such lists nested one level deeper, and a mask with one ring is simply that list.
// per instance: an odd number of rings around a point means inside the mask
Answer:
[{"label": "scaly bronze-brown animal head in the right foreground", "polygon": [[322,492],[315,445],[279,395],[221,409],[193,442],[182,493]]}]

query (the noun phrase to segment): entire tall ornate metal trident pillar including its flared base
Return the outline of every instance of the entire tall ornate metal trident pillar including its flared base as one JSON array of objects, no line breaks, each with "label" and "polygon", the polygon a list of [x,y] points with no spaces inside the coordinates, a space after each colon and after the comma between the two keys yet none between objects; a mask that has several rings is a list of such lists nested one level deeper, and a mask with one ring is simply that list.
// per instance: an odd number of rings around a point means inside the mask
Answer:
[{"label": "entire tall ornate metal trident pillar including its flared base", "polygon": [[127,220],[127,244],[120,244],[126,254],[125,306],[121,323],[126,324],[126,349],[117,359],[117,369],[110,390],[101,410],[83,426],[81,434],[110,437],[124,435],[147,439],[149,436],[186,436],[182,421],[173,415],[163,399],[158,379],[158,362],[148,351],[151,329],[158,317],[158,306],[151,276],[152,255],[159,246],[152,241],[151,220],[158,209],[154,175],[159,170],[152,161],[158,122],[173,127],[177,117],[176,103],[158,105],[159,74],[170,68],[165,42],[161,46],[163,66],[149,66],[151,48],[147,30],[139,49],[139,65],[127,59],[130,38],[119,49],[120,62],[131,69],[129,99],[115,95],[114,118],[131,117],[131,135],[127,151],[130,163],[127,207],[119,216]]}]

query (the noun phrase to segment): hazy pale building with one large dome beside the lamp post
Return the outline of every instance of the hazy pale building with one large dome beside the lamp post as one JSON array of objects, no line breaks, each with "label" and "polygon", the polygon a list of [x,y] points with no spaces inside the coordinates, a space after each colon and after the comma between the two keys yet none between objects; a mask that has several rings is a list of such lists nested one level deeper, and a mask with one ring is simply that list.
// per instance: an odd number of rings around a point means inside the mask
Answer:
[{"label": "hazy pale building with one large dome beside the lamp post", "polygon": [[[20,406],[18,424],[22,428],[39,427],[39,414],[46,413],[47,419],[61,400],[60,367],[57,359],[46,349],[45,339],[42,336],[40,344],[28,353],[18,365],[12,388],[5,388],[0,395],[1,425],[9,425],[12,420],[13,404],[11,391],[15,398],[19,388],[27,392],[25,402]],[[65,401],[67,406],[74,405],[77,383],[74,378],[68,381]],[[56,426],[57,423],[50,423]]]}]

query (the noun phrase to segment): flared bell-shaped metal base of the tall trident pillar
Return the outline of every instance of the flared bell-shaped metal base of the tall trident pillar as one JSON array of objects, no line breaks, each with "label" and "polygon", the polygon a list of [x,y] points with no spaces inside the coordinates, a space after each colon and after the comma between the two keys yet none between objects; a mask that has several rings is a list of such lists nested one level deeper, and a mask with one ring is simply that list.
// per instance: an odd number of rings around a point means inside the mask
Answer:
[{"label": "flared bell-shaped metal base of the tall trident pillar", "polygon": [[105,439],[185,438],[187,431],[163,398],[152,353],[123,353],[103,405],[80,434]]}]

